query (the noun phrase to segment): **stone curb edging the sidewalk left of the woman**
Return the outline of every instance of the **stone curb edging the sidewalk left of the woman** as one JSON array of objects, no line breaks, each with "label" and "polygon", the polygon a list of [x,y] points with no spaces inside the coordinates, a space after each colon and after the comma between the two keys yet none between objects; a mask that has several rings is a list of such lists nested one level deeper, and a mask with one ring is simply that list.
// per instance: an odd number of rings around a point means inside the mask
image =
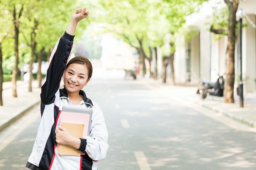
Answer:
[{"label": "stone curb edging the sidewalk left of the woman", "polygon": [[30,111],[32,108],[34,108],[36,105],[41,103],[41,99],[37,100],[36,102],[29,105],[27,108],[23,109],[22,111],[19,111],[16,116],[9,119],[7,122],[5,122],[3,125],[0,125],[0,131],[11,125],[13,122],[15,122],[17,119],[19,119],[21,116],[26,114],[28,111]]}]

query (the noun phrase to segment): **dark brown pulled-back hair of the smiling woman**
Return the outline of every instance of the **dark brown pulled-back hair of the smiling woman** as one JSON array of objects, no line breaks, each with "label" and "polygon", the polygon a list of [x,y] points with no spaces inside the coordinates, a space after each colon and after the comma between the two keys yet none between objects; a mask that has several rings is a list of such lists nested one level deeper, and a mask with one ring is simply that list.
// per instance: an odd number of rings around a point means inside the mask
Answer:
[{"label": "dark brown pulled-back hair of the smiling woman", "polygon": [[70,64],[82,64],[82,65],[86,65],[88,68],[88,79],[92,77],[93,74],[93,66],[92,63],[90,62],[89,59],[83,57],[83,56],[76,56],[73,59],[70,59],[70,61],[67,63],[66,65],[66,69],[68,68],[68,66]]}]

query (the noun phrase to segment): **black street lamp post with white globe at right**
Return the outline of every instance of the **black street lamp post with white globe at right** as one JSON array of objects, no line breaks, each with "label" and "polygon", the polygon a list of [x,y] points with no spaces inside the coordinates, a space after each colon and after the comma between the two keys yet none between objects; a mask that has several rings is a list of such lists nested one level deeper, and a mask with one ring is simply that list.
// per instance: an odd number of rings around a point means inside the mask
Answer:
[{"label": "black street lamp post with white globe at right", "polygon": [[239,102],[240,107],[244,107],[244,96],[243,96],[243,81],[242,81],[242,18],[244,16],[244,12],[242,9],[236,11],[236,17],[239,18],[239,58],[240,58],[240,81],[239,81]]}]

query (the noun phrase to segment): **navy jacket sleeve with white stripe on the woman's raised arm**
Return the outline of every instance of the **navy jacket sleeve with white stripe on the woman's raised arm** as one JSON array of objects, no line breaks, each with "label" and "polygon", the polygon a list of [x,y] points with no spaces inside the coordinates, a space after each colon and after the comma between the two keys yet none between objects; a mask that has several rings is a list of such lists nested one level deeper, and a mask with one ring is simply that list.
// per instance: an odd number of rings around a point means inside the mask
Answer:
[{"label": "navy jacket sleeve with white stripe on the woman's raised arm", "polygon": [[41,102],[45,105],[54,101],[54,95],[60,86],[61,77],[64,74],[68,58],[73,51],[74,37],[75,36],[65,32],[64,35],[58,39],[52,51],[47,76],[41,87]]}]

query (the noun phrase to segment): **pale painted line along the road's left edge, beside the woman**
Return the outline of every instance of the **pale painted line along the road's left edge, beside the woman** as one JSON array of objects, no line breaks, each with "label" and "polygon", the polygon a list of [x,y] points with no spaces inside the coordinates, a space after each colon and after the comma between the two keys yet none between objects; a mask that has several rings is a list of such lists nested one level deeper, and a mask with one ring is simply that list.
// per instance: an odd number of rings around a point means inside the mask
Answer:
[{"label": "pale painted line along the road's left edge, beside the woman", "polygon": [[0,152],[8,146],[26,127],[28,127],[32,122],[35,121],[35,119],[38,118],[40,114],[34,114],[31,119],[23,123],[14,133],[12,133],[10,136],[8,136],[1,144],[0,144]]}]

